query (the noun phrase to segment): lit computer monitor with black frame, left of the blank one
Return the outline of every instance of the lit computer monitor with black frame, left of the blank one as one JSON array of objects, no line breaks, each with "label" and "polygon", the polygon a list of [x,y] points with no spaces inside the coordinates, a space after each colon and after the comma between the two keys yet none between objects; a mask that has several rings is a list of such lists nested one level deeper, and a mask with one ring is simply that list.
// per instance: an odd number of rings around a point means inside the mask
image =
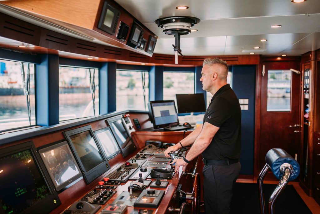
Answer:
[{"label": "lit computer monitor with black frame, left of the blank one", "polygon": [[179,124],[174,100],[150,101],[149,113],[153,121],[153,128],[164,128],[170,124]]}]

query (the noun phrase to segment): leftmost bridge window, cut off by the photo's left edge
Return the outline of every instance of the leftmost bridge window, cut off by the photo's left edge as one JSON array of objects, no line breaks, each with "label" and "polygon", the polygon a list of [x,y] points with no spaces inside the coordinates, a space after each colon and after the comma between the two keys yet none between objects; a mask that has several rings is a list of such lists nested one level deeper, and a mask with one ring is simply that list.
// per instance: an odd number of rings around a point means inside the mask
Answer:
[{"label": "leftmost bridge window, cut off by the photo's left edge", "polygon": [[0,60],[0,132],[36,124],[35,66]]}]

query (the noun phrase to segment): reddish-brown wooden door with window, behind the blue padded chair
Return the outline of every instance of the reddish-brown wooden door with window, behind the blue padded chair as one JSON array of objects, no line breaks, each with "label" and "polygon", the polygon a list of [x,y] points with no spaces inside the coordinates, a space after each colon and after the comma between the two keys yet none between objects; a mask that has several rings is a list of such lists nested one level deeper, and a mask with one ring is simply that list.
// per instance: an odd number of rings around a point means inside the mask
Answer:
[{"label": "reddish-brown wooden door with window, behind the blue padded chair", "polygon": [[282,148],[292,157],[300,145],[300,62],[264,62],[261,76],[259,171],[265,165],[267,152]]}]

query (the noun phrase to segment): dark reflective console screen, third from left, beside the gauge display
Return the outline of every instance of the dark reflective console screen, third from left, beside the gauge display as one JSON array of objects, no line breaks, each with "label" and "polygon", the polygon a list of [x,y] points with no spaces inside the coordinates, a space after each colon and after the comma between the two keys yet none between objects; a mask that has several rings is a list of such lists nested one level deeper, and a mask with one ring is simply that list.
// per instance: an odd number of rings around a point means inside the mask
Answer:
[{"label": "dark reflective console screen, third from left, beside the gauge display", "polygon": [[89,131],[71,135],[70,139],[86,171],[104,162],[98,146]]}]

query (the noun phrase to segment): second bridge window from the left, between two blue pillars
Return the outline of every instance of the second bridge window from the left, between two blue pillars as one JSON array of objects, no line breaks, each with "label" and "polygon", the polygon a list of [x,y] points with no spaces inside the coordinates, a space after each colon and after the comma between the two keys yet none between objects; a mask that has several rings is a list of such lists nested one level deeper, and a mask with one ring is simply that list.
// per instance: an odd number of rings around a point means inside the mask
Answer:
[{"label": "second bridge window from the left, between two blue pillars", "polygon": [[59,66],[60,121],[99,114],[99,70]]}]

